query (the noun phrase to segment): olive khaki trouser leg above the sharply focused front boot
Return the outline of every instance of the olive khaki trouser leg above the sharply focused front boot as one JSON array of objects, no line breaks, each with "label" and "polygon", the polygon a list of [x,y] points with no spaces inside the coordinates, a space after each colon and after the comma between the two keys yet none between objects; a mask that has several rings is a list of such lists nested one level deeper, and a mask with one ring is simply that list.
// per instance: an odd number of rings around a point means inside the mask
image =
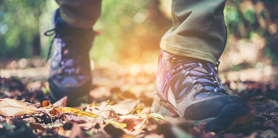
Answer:
[{"label": "olive khaki trouser leg above the sharply focused front boot", "polygon": [[226,44],[226,0],[172,0],[173,26],[162,37],[162,50],[216,63]]}]

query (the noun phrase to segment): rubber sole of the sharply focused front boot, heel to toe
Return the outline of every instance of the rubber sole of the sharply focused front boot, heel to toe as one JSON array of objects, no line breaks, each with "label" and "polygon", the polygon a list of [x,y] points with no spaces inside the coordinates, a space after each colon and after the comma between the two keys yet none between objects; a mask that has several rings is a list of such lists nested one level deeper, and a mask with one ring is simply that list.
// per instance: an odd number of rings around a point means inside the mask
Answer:
[{"label": "rubber sole of the sharply focused front boot, heel to toe", "polygon": [[[232,107],[232,108],[240,108],[240,107]],[[230,130],[239,130],[242,128],[246,128],[252,120],[255,119],[255,110],[250,110],[244,116],[237,116],[236,114],[232,116],[224,116],[227,114],[225,110],[228,108],[223,108],[220,114],[217,117],[207,118],[204,120],[187,120],[192,123],[194,126],[200,126],[201,124],[206,124],[206,131],[208,132],[224,132]],[[161,114],[163,116],[174,116],[174,117],[183,117],[182,114],[178,112],[178,110],[168,102],[165,102],[160,96],[154,95],[154,102],[151,108],[152,112]],[[227,120],[232,119],[232,123],[225,124],[223,122],[227,122]],[[216,129],[217,128],[217,129]]]}]

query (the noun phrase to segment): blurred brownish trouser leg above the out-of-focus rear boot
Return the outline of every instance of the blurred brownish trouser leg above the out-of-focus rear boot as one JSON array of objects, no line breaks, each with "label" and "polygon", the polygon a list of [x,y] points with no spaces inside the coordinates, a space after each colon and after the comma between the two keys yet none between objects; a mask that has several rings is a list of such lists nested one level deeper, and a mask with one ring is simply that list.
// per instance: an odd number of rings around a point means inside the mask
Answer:
[{"label": "blurred brownish trouser leg above the out-of-focus rear boot", "polygon": [[61,18],[71,26],[92,27],[100,16],[101,0],[56,0]]}]

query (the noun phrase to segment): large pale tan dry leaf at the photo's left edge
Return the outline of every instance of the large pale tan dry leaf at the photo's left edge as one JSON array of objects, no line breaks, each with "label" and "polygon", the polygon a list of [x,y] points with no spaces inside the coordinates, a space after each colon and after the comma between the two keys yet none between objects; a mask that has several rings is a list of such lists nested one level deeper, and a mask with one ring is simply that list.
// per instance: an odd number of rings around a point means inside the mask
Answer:
[{"label": "large pale tan dry leaf at the photo's left edge", "polygon": [[40,113],[40,110],[34,106],[29,106],[26,102],[8,98],[0,101],[0,115],[20,116],[24,114],[32,115],[35,113]]}]

